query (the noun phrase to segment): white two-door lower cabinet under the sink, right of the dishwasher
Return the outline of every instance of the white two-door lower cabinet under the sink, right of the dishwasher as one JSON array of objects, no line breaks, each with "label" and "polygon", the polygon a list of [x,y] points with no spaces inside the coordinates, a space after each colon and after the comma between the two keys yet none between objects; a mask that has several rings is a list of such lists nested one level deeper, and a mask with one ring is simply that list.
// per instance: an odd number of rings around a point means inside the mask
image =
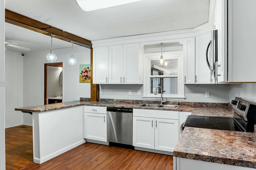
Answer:
[{"label": "white two-door lower cabinet under the sink, right of the dishwasher", "polygon": [[[179,140],[179,120],[164,118],[166,114],[169,118],[172,112],[176,118],[176,111],[134,109],[133,115],[142,116],[133,117],[133,146],[173,152]],[[147,114],[152,117],[143,117]]]}]

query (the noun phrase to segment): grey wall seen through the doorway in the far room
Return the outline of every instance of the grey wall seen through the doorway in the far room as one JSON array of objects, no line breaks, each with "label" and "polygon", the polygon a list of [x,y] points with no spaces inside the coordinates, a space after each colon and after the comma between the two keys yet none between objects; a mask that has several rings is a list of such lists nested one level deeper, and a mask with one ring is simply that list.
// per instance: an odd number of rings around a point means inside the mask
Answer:
[{"label": "grey wall seen through the doorway in the far room", "polygon": [[47,97],[53,98],[62,95],[62,86],[59,78],[62,69],[56,66],[47,66]]}]

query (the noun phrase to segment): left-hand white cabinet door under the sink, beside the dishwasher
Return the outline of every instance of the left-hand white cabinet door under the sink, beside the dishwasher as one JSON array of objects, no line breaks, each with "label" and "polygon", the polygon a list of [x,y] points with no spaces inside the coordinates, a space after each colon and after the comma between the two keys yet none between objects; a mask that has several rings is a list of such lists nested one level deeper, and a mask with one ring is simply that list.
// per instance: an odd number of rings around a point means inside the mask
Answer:
[{"label": "left-hand white cabinet door under the sink, beside the dishwasher", "polygon": [[154,118],[134,116],[132,126],[132,145],[154,149]]}]

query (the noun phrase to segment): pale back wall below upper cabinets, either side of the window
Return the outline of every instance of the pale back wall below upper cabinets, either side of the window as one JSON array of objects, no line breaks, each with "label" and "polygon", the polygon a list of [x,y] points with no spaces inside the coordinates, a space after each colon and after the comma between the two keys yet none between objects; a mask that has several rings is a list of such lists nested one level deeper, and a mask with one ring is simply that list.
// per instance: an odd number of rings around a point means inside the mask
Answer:
[{"label": "pale back wall below upper cabinets, either side of the window", "polygon": [[[132,91],[132,96],[128,96],[128,90]],[[137,91],[141,91],[141,96]],[[210,92],[210,98],[205,97],[205,92]],[[124,99],[143,100],[143,85],[136,84],[102,84],[100,85],[100,98],[102,99]],[[184,102],[210,102],[228,103],[228,84],[191,84],[185,85]],[[158,99],[156,99],[158,100]]]}]

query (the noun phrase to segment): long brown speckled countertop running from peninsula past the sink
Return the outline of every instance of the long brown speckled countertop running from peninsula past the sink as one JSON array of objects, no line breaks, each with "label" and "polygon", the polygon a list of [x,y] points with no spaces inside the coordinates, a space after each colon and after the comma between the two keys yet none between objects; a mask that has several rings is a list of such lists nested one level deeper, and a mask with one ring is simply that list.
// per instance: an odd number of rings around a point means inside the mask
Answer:
[{"label": "long brown speckled countertop running from peninsula past the sink", "polygon": [[[76,107],[76,106],[103,106],[103,107],[124,107],[124,108],[133,108],[133,109],[156,109],[156,110],[173,110],[173,111],[187,111],[187,112],[192,112],[194,109],[199,109],[198,114],[200,113],[200,109],[201,111],[212,110],[212,113],[214,114],[214,108],[216,107],[219,108],[218,110],[221,110],[219,112],[222,112],[222,114],[224,114],[225,111],[228,111],[228,107],[227,107],[228,105],[224,103],[216,104],[216,103],[179,102],[178,108],[138,106],[140,104],[148,103],[148,102],[156,103],[156,101],[144,101],[144,100],[104,100],[104,99],[99,102],[90,102],[90,101],[80,99],[72,102],[63,102],[63,103],[30,106],[30,107],[20,107],[20,108],[15,108],[15,110],[32,114],[32,112],[52,111],[52,110],[64,109],[64,108]],[[169,102],[167,104],[177,104],[177,102]],[[216,114],[216,111],[215,111],[215,114]]]}]

